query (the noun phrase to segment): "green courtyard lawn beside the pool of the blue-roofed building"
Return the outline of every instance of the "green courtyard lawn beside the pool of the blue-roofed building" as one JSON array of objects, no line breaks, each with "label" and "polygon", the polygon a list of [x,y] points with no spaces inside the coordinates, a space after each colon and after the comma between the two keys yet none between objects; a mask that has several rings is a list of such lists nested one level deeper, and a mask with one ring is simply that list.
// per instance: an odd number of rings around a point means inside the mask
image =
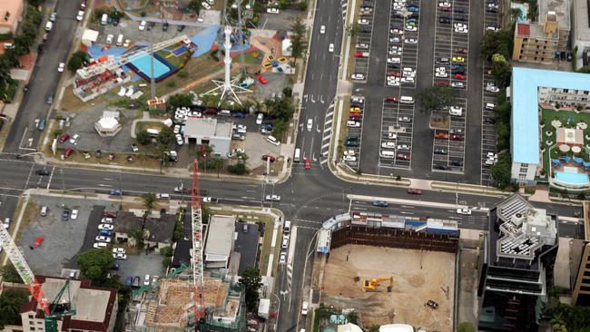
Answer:
[{"label": "green courtyard lawn beside the pool of the blue-roofed building", "polygon": [[[560,122],[562,122],[562,125],[565,128],[575,128],[575,124],[578,122],[585,122],[588,124],[588,126],[590,127],[590,113],[587,112],[574,112],[574,111],[556,111],[554,109],[543,109],[541,111],[541,118],[543,119],[543,122],[545,123],[545,127],[541,130],[542,131],[542,135],[541,135],[541,143],[543,144],[543,146],[546,147],[546,151],[543,152],[543,168],[544,170],[546,170],[546,172],[548,173],[549,170],[549,147],[546,145],[546,141],[551,141],[554,142],[554,148],[551,149],[551,158],[552,159],[557,159],[561,156],[565,156],[565,155],[569,155],[570,157],[574,156],[574,153],[569,151],[567,153],[561,152],[559,151],[556,146],[555,146],[555,142],[556,142],[556,129],[551,125],[551,122],[553,120],[559,120]],[[569,122],[568,124],[568,120],[569,119],[573,119],[572,121]],[[552,132],[551,135],[547,135],[546,132]],[[590,134],[590,128],[585,129],[584,131],[584,136]],[[588,144],[590,141],[584,139],[584,144]],[[584,151],[584,150],[583,150]],[[586,158],[585,153],[578,153],[575,155],[576,157],[582,157],[582,158]],[[586,161],[588,161],[586,159]]]}]

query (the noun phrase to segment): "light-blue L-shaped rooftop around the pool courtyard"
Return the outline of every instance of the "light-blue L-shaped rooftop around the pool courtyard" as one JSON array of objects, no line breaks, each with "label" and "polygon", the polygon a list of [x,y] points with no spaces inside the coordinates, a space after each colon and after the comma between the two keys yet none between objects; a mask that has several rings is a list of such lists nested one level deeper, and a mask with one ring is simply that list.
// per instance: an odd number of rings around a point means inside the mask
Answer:
[{"label": "light-blue L-shaped rooftop around the pool courtyard", "polygon": [[538,87],[590,91],[587,73],[512,69],[512,160],[539,163]]}]

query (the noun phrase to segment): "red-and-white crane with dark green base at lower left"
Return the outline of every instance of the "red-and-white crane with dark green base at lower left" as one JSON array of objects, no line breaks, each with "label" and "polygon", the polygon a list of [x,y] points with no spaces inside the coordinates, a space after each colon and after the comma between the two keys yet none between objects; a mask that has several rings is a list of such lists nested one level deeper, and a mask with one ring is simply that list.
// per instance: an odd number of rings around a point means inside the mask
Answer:
[{"label": "red-and-white crane with dark green base at lower left", "polygon": [[[23,253],[16,247],[15,241],[4,227],[0,227],[0,246],[5,249],[8,259],[13,263],[16,272],[23,279],[33,298],[41,305],[45,316],[45,331],[57,332],[58,318],[74,316],[76,314],[76,310],[71,305],[69,298],[70,279],[65,281],[64,287],[60,289],[52,303],[48,304],[41,281],[34,276],[33,270],[26,263]],[[60,303],[66,289],[68,291],[68,300],[65,303]]]}]

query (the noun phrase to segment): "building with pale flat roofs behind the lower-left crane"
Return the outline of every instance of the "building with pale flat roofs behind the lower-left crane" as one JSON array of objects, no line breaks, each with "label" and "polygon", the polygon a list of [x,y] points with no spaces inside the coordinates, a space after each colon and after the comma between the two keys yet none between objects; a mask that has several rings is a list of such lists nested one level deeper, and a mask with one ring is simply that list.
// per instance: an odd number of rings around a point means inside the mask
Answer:
[{"label": "building with pale flat roofs behind the lower-left crane", "polygon": [[[46,298],[55,298],[66,281],[65,278],[38,278],[42,282]],[[108,324],[113,315],[114,301],[117,298],[116,289],[91,287],[90,280],[71,280],[69,288],[70,298],[76,308],[76,314],[64,318],[64,327],[66,328],[63,327],[63,329],[108,329]],[[34,298],[21,308],[21,312],[30,310],[37,311],[37,317],[39,317],[39,313],[43,313]],[[116,313],[114,314],[116,315]]]}]

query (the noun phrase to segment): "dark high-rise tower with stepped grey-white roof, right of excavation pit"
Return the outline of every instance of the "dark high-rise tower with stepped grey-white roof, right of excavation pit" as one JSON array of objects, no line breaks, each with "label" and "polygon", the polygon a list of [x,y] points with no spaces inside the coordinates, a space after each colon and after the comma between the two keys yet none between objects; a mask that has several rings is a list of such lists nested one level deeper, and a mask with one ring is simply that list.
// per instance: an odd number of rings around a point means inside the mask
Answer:
[{"label": "dark high-rise tower with stepped grey-white roof, right of excavation pit", "polygon": [[478,331],[536,331],[557,256],[557,216],[518,194],[489,212],[477,297]]}]

